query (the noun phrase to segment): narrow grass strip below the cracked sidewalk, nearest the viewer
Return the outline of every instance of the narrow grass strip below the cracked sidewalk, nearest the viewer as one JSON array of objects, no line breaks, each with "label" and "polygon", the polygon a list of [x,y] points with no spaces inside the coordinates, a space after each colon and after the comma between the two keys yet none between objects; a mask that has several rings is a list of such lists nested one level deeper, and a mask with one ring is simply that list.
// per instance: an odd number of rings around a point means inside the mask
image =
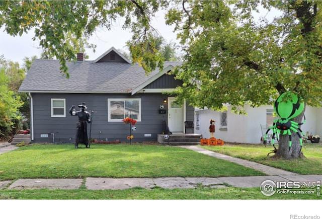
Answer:
[{"label": "narrow grass strip below the cracked sidewalk, nearest the viewer", "polygon": [[320,199],[316,194],[277,194],[267,197],[259,188],[196,188],[125,190],[0,190],[0,199]]}]

